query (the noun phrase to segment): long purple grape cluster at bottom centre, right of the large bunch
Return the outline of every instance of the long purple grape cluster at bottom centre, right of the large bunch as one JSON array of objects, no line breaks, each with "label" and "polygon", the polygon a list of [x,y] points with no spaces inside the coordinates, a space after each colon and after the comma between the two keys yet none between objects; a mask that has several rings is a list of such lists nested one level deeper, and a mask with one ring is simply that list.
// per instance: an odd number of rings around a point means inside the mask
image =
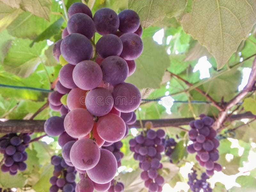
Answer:
[{"label": "long purple grape cluster at bottom centre, right of the large bunch", "polygon": [[148,129],[129,141],[130,150],[134,152],[134,159],[140,161],[139,166],[143,170],[140,177],[145,181],[145,186],[150,192],[162,191],[164,178],[158,174],[163,168],[160,163],[161,152],[164,152],[162,138],[165,132],[162,129],[154,131]]}]

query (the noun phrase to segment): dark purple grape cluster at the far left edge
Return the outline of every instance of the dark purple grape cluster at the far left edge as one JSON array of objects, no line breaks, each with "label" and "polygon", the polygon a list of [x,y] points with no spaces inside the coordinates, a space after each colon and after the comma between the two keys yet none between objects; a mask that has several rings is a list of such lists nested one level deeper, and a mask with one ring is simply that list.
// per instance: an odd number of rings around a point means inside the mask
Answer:
[{"label": "dark purple grape cluster at the far left edge", "polygon": [[28,147],[30,136],[28,133],[10,133],[0,138],[0,152],[4,154],[4,164],[1,166],[2,172],[16,175],[18,170],[25,171],[28,154],[25,149]]}]

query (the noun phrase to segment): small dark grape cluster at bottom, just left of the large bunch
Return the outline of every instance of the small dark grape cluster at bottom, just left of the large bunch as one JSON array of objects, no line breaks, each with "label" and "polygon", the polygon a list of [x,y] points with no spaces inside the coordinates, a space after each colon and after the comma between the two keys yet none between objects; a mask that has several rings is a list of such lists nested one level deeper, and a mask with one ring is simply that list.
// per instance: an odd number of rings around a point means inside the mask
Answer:
[{"label": "small dark grape cluster at bottom, just left of the large bunch", "polygon": [[50,178],[50,183],[52,184],[50,192],[57,192],[59,189],[63,192],[75,192],[75,167],[66,164],[61,156],[52,156],[51,163],[54,165],[54,171],[53,176]]}]

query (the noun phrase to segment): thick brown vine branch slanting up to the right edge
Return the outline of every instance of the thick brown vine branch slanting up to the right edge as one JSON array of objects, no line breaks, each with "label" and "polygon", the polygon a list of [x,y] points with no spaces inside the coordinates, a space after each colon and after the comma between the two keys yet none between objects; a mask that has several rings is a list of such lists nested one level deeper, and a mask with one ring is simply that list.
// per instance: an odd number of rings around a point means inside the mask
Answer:
[{"label": "thick brown vine branch slanting up to the right edge", "polygon": [[253,63],[252,63],[252,71],[250,73],[248,83],[246,84],[244,89],[238,95],[236,95],[236,97],[234,97],[232,100],[230,100],[227,103],[227,105],[223,108],[223,110],[220,112],[219,117],[217,118],[217,120],[215,121],[215,124],[214,124],[215,130],[223,129],[223,127],[222,128],[220,128],[220,127],[225,121],[226,115],[228,114],[228,110],[230,108],[232,108],[233,106],[235,106],[249,92],[252,91],[252,88],[255,84],[255,78],[256,78],[256,57],[254,58]]}]

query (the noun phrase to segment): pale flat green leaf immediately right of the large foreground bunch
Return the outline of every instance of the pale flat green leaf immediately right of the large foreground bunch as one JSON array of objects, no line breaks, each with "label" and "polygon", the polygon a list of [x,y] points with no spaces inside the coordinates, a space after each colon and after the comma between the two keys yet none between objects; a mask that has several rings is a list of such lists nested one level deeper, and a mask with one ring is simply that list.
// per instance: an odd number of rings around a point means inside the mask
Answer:
[{"label": "pale flat green leaf immediately right of the large foreground bunch", "polygon": [[136,70],[125,82],[134,84],[139,89],[146,87],[158,88],[162,82],[164,71],[170,65],[170,60],[164,47],[156,44],[152,37],[142,40],[143,52],[135,60]]}]

